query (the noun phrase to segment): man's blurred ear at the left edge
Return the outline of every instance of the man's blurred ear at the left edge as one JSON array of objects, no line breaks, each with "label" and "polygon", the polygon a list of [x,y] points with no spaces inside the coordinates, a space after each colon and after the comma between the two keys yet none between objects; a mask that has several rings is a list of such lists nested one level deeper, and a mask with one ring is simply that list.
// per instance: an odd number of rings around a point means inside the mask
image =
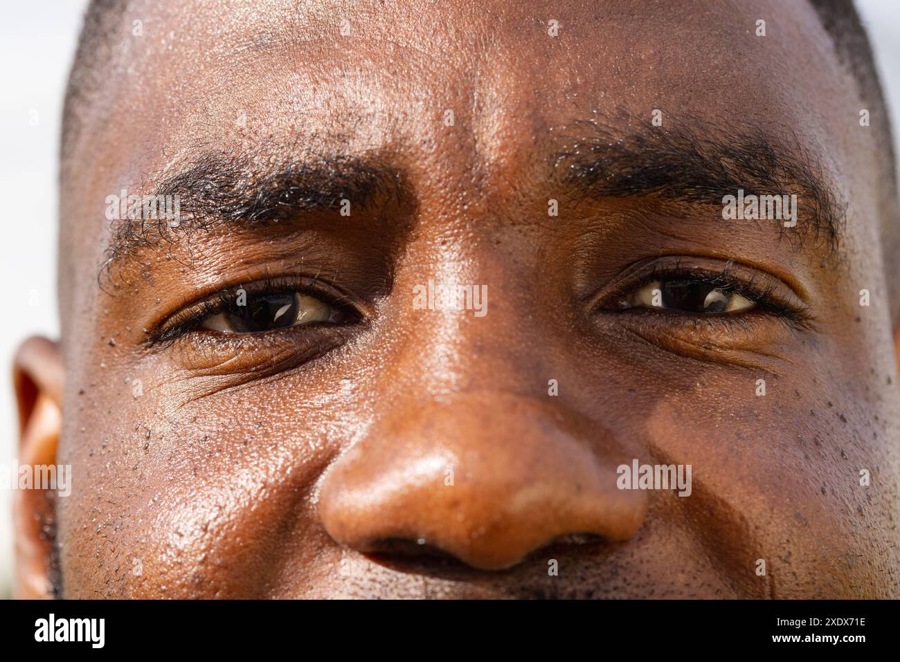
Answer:
[{"label": "man's blurred ear at the left edge", "polygon": [[[58,345],[38,336],[23,342],[15,354],[13,381],[19,406],[19,465],[56,464],[63,392]],[[52,597],[49,558],[53,541],[44,532],[45,523],[54,517],[49,491],[14,491],[14,593],[19,598]]]}]

